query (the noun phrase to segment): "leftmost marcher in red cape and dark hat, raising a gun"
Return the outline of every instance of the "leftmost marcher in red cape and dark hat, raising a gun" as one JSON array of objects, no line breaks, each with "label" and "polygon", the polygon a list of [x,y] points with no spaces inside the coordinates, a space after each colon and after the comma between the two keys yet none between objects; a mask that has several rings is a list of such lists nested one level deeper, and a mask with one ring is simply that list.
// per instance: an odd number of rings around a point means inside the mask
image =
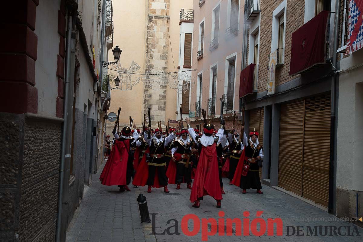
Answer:
[{"label": "leftmost marcher in red cape and dark hat, raising a gun", "polygon": [[[116,138],[115,144],[113,145],[109,159],[106,162],[105,167],[102,170],[99,180],[102,185],[112,186],[118,185],[120,192],[130,191],[127,185],[130,184],[131,176],[134,171],[132,161],[134,157],[130,152],[131,144],[138,139],[138,132],[134,132],[134,135],[130,137],[131,129],[129,127],[123,127],[121,136],[116,132],[115,124],[114,136]],[[134,125],[134,129],[136,126]]]}]

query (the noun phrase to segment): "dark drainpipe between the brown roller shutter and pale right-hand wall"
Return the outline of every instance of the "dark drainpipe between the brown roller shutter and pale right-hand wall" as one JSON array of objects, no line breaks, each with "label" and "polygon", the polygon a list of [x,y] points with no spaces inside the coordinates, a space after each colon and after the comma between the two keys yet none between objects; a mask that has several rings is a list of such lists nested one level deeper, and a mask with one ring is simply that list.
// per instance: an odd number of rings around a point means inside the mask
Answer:
[{"label": "dark drainpipe between the brown roller shutter and pale right-hand wall", "polygon": [[[335,1],[335,25],[334,25],[334,45],[333,45],[333,66],[337,68],[337,50],[338,50],[338,25],[339,25],[339,1]],[[330,58],[330,57],[329,57]],[[335,213],[335,187],[336,187],[336,167],[337,160],[335,159],[336,152],[336,126],[335,126],[335,115],[337,108],[337,81],[339,80],[339,73],[335,72],[331,77],[331,108],[330,108],[330,159],[329,159],[329,200],[328,200],[328,213]]]}]

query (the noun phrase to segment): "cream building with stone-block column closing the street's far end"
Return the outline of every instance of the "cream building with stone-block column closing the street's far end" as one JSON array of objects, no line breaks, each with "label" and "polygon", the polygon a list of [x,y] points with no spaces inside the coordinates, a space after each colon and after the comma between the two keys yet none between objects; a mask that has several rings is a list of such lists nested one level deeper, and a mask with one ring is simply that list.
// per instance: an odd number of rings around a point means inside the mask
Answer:
[{"label": "cream building with stone-block column closing the street's far end", "polygon": [[[145,0],[145,1],[117,1],[114,2],[114,26],[119,31],[114,34],[114,43],[122,49],[122,61],[117,66],[109,66],[109,73],[113,77],[121,75],[113,70],[128,71],[132,81],[146,71],[154,68],[160,71],[178,71],[179,50],[179,12],[183,8],[192,8],[192,0]],[[110,53],[111,55],[111,53]],[[139,65],[135,71],[133,62]],[[110,70],[113,69],[113,70]],[[113,80],[111,86],[114,87]],[[121,84],[120,84],[121,86]],[[155,90],[154,90],[155,89]],[[120,127],[129,123],[129,116],[141,127],[143,114],[151,108],[152,125],[168,119],[176,119],[176,95],[174,89],[168,85],[151,88],[140,81],[130,90],[115,89],[111,91],[112,104],[110,111],[117,113],[122,108]],[[113,124],[107,124],[107,134],[110,134]],[[165,127],[164,127],[165,128]]]}]

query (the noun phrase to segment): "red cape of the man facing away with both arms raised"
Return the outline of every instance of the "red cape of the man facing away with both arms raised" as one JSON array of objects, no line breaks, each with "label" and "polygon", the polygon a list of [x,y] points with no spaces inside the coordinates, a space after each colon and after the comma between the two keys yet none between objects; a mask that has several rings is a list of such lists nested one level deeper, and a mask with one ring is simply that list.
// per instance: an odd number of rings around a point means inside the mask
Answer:
[{"label": "red cape of the man facing away with both arms raised", "polygon": [[195,202],[197,198],[205,195],[222,200],[216,143],[202,147],[189,200]]}]

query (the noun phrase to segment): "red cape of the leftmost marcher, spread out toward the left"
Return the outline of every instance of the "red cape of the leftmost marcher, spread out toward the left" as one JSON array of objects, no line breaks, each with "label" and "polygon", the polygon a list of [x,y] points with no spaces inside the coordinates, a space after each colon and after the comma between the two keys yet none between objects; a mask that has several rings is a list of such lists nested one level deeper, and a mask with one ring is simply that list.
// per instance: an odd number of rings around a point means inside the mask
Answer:
[{"label": "red cape of the leftmost marcher, spread out toward the left", "polygon": [[[126,146],[125,146],[126,145]],[[110,153],[109,159],[102,170],[99,180],[102,185],[127,185],[126,169],[129,159],[130,140],[116,140]]]}]

